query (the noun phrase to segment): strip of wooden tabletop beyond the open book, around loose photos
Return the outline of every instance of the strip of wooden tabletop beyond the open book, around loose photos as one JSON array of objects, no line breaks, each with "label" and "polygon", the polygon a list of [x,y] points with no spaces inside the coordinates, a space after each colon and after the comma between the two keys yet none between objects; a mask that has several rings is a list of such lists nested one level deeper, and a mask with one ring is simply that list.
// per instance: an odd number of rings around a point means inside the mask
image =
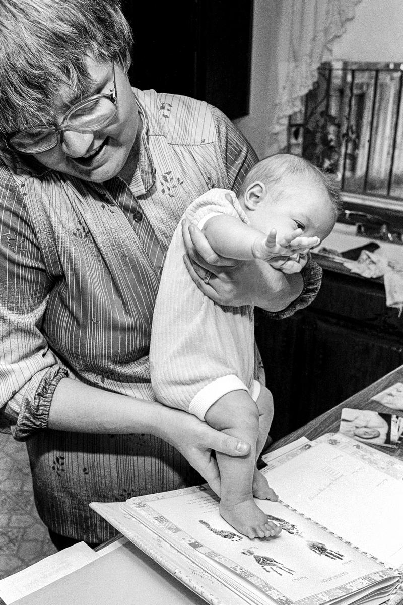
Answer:
[{"label": "strip of wooden tabletop beyond the open book, around loose photos", "polygon": [[[358,370],[359,371],[359,370]],[[299,439],[300,437],[307,437],[307,439],[316,439],[316,437],[320,437],[324,433],[333,433],[338,431],[338,427],[340,425],[340,417],[341,410],[343,408],[353,408],[356,410],[375,410],[377,412],[387,413],[387,414],[397,414],[397,416],[403,416],[403,411],[391,410],[390,408],[385,407],[385,405],[378,404],[376,401],[370,401],[371,397],[380,393],[385,388],[391,387],[396,382],[403,382],[403,365],[396,368],[392,372],[382,376],[376,382],[373,382],[369,385],[369,387],[364,388],[362,391],[359,391],[346,401],[343,401],[340,405],[332,408],[318,416],[308,424],[304,425],[301,428],[298,428],[296,431],[293,431],[289,435],[282,437],[278,441],[272,443],[272,445],[266,451],[273,451],[280,448],[282,445],[286,445],[286,443],[291,443],[295,441],[295,439]],[[329,385],[329,388],[332,388],[332,385]],[[384,447],[381,445],[371,444],[372,447],[377,450],[383,451],[390,456],[395,456],[401,458],[403,460],[403,448],[390,448]]]}]

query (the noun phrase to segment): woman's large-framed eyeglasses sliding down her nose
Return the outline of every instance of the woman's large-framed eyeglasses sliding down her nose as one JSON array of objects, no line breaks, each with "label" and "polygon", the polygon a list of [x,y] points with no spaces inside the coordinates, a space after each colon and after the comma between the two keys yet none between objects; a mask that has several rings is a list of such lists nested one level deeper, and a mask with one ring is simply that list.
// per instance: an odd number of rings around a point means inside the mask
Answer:
[{"label": "woman's large-framed eyeglasses sliding down her nose", "polygon": [[32,126],[7,137],[7,146],[21,153],[49,151],[60,143],[63,131],[94,132],[109,124],[117,113],[115,64],[112,61],[114,88],[111,94],[94,94],[73,105],[59,126]]}]

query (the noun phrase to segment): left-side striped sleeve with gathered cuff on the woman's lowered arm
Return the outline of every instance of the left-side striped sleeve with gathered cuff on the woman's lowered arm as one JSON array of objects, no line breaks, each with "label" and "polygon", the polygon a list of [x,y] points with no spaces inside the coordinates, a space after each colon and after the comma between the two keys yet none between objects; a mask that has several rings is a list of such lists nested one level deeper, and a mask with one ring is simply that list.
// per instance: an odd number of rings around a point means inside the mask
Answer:
[{"label": "left-side striped sleeve with gathered cuff on the woman's lowered arm", "polygon": [[0,413],[16,439],[47,427],[67,372],[42,335],[51,284],[18,186],[0,174]]}]

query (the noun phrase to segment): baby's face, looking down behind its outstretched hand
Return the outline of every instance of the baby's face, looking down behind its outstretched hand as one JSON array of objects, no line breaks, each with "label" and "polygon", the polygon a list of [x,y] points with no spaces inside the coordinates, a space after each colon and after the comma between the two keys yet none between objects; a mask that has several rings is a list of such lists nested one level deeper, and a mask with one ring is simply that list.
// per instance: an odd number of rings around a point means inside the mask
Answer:
[{"label": "baby's face, looking down behind its outstretched hand", "polygon": [[317,236],[323,241],[335,225],[336,212],[326,189],[309,183],[286,186],[277,201],[267,195],[260,212],[250,212],[248,217],[254,227],[265,233],[274,227],[277,240],[302,229],[306,237]]}]

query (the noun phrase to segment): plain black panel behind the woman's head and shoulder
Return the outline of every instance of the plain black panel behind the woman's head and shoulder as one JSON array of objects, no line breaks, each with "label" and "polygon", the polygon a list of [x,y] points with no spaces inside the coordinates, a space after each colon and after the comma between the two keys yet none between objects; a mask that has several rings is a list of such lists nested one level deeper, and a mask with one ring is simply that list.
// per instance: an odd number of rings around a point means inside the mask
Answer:
[{"label": "plain black panel behind the woman's head and shoulder", "polygon": [[133,86],[184,94],[247,116],[253,0],[125,0]]}]

